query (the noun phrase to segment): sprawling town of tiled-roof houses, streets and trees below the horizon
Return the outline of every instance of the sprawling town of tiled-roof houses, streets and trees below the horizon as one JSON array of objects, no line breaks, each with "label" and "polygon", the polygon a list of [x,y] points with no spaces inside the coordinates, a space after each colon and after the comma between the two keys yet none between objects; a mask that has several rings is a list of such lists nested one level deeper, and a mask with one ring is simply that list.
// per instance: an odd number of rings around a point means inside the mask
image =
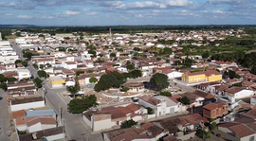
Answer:
[{"label": "sprawling town of tiled-roof houses, streets and trees below the horizon", "polygon": [[243,27],[108,30],[0,34],[1,141],[256,140]]}]

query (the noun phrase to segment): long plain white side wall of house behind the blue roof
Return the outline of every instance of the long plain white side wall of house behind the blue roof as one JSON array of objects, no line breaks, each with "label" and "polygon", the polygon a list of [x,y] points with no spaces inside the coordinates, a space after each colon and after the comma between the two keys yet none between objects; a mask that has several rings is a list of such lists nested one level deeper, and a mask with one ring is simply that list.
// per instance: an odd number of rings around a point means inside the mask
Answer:
[{"label": "long plain white side wall of house behind the blue roof", "polygon": [[13,112],[13,111],[19,111],[19,110],[28,109],[28,108],[39,108],[39,107],[45,107],[44,100],[24,103],[24,104],[10,105],[10,110],[11,112]]}]

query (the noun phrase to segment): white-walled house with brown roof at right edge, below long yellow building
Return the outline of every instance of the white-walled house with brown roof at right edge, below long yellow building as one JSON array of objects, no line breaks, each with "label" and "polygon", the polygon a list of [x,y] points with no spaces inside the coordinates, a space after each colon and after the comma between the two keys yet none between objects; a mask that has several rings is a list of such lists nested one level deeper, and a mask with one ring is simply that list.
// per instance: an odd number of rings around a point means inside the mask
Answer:
[{"label": "white-walled house with brown roof at right edge, below long yellow building", "polygon": [[230,101],[234,101],[235,99],[253,96],[254,93],[252,90],[233,86],[225,90],[225,95],[229,97]]}]

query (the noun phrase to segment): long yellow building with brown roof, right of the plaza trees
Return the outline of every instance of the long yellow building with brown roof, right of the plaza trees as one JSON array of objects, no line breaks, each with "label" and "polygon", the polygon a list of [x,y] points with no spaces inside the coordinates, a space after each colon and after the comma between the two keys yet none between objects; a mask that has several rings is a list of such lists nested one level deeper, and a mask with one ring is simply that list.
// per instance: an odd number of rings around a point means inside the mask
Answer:
[{"label": "long yellow building with brown roof, right of the plaza trees", "polygon": [[208,70],[203,72],[196,72],[196,73],[185,73],[182,74],[182,80],[188,83],[192,82],[203,82],[203,81],[218,81],[222,80],[222,74],[214,71]]}]

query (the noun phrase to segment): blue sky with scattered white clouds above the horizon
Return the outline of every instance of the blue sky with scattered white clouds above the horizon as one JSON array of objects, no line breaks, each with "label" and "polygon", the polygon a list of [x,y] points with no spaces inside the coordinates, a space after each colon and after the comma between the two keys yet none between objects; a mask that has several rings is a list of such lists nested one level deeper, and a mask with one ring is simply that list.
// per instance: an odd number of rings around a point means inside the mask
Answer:
[{"label": "blue sky with scattered white clouds above the horizon", "polygon": [[255,25],[256,0],[0,0],[0,25]]}]

